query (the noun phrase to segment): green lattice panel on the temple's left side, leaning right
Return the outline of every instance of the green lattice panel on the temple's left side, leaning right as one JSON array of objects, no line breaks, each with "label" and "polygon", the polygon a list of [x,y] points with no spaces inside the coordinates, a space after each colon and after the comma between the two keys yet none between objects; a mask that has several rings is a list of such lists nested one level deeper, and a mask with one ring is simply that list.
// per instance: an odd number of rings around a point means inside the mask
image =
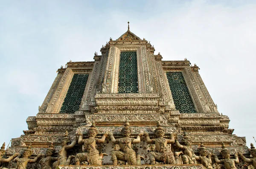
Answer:
[{"label": "green lattice panel on the temple's left side, leaning right", "polygon": [[74,74],[60,113],[73,114],[79,110],[88,77],[88,74]]}]

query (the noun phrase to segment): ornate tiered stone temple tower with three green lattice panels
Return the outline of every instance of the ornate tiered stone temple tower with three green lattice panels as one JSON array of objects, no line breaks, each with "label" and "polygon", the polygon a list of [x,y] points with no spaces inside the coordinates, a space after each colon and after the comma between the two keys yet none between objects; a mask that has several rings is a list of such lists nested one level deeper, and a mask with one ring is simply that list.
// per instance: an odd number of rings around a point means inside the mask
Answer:
[{"label": "ornate tiered stone temple tower with three green lattice panels", "polygon": [[[100,51],[92,62],[70,61],[67,67],[58,69],[38,113],[27,118],[24,135],[12,139],[6,158],[20,153],[16,156],[21,159],[24,152],[29,152],[27,169],[47,168],[43,167],[46,164],[42,161],[46,160],[42,153],[52,149],[51,168],[111,168],[113,164],[126,164],[142,168],[229,169],[218,164],[216,158],[225,160],[221,152],[228,151],[231,159],[237,158],[236,152],[250,157],[245,138],[233,135],[229,118],[218,112],[197,65],[192,66],[187,59],[163,61],[161,54],[154,54],[154,47],[129,27],[118,39],[110,38]],[[96,139],[96,144],[87,138]],[[166,139],[162,140],[166,141],[164,148],[160,138]],[[101,162],[92,160],[88,145]],[[64,146],[66,154],[62,153]],[[208,166],[198,158],[202,149],[208,151]],[[239,160],[234,162],[237,168],[253,168]],[[7,168],[18,165],[15,161],[3,164]],[[233,161],[230,168],[234,168],[232,165]]]}]

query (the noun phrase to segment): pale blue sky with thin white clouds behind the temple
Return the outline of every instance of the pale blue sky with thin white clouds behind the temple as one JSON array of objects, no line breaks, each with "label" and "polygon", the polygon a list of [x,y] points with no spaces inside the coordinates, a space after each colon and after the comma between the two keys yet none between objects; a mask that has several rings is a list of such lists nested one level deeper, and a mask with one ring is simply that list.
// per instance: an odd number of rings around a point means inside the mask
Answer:
[{"label": "pale blue sky with thin white clouds behind the temple", "polygon": [[[130,30],[163,60],[196,63],[233,134],[256,137],[255,0],[0,0],[0,144],[27,130],[56,70]],[[254,126],[254,127],[253,127]]]}]

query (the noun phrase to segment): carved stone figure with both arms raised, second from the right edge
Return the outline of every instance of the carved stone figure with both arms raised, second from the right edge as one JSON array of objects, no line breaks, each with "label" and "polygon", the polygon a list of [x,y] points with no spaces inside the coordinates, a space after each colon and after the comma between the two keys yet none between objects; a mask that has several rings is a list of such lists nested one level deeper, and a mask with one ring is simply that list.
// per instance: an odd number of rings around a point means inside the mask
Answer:
[{"label": "carved stone figure with both arms raised, second from the right edge", "polygon": [[230,158],[230,150],[225,148],[224,143],[222,142],[222,147],[221,147],[221,155],[223,156],[224,159],[219,160],[218,156],[214,155],[214,159],[216,163],[218,164],[224,164],[226,169],[236,169],[235,163],[239,163],[238,159],[238,153],[235,153],[235,159]]}]

